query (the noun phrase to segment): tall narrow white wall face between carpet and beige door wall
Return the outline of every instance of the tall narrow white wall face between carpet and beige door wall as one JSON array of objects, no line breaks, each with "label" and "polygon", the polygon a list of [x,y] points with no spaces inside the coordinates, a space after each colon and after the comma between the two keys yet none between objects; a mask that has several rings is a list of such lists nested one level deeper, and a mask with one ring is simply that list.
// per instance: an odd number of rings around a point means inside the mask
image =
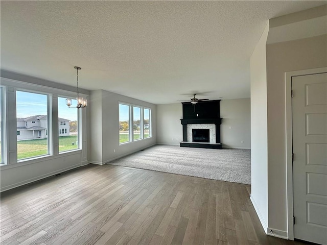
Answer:
[{"label": "tall narrow white wall face between carpet and beige door wall", "polygon": [[251,201],[261,224],[268,227],[267,24],[250,58],[251,69]]}]

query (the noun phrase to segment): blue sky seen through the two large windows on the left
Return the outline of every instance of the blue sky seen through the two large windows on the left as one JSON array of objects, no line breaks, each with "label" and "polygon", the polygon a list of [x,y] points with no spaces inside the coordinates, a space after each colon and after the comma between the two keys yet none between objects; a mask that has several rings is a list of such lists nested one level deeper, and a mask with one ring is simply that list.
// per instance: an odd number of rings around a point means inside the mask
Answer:
[{"label": "blue sky seen through the two large windows on the left", "polygon": [[[16,92],[16,112],[17,117],[29,117],[34,115],[46,115],[47,95],[39,93]],[[73,100],[73,106],[76,100]],[[77,108],[66,106],[66,98],[58,97],[59,117],[68,120],[77,120]]]}]

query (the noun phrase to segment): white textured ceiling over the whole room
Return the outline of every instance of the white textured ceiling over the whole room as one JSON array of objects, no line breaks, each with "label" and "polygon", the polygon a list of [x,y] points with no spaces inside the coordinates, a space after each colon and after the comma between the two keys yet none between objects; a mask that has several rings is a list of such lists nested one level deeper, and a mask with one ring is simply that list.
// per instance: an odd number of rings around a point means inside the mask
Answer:
[{"label": "white textured ceiling over the whole room", "polygon": [[250,97],[268,19],[325,1],[1,1],[1,68],[153,104]]}]

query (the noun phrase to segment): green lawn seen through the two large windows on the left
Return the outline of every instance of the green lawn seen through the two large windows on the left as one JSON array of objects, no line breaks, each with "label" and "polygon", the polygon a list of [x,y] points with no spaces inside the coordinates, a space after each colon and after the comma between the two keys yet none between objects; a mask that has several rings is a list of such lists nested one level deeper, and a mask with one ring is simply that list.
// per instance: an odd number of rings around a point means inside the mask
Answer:
[{"label": "green lawn seen through the two large windows on the left", "polygon": [[[77,135],[59,137],[59,152],[78,149]],[[48,154],[48,139],[29,139],[17,141],[17,159]]]}]

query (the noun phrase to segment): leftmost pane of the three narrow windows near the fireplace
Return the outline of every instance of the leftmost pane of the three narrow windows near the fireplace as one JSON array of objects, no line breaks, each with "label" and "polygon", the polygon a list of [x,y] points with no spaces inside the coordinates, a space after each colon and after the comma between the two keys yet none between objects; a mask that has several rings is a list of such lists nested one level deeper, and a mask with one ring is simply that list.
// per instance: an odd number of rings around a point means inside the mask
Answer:
[{"label": "leftmost pane of the three narrow windows near the fireplace", "polygon": [[125,143],[130,141],[130,106],[119,104],[119,142]]}]

